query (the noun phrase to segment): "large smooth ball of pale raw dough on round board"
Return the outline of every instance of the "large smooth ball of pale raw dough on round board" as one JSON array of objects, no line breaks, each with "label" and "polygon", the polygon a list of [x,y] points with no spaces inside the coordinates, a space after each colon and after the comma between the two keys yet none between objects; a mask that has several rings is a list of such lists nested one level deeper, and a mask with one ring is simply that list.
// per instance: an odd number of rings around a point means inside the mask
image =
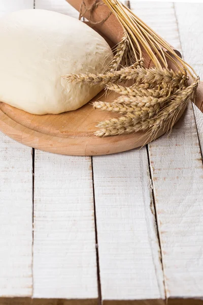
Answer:
[{"label": "large smooth ball of pale raw dough on round board", "polygon": [[101,73],[113,57],[88,25],[45,10],[1,18],[0,43],[0,101],[33,114],[75,110],[89,102],[101,87],[67,83],[61,76]]}]

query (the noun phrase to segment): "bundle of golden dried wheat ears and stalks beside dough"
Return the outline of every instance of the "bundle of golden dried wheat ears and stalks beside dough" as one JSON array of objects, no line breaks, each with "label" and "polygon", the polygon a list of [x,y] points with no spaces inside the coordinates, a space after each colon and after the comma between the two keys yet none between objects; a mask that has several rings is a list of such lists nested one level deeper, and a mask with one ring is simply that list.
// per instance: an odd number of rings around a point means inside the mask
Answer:
[{"label": "bundle of golden dried wheat ears and stalks beside dough", "polygon": [[[180,111],[194,100],[199,78],[173,48],[118,0],[103,0],[123,26],[123,39],[103,74],[66,75],[68,82],[106,85],[120,96],[110,102],[97,101],[95,109],[121,113],[101,121],[96,136],[146,131],[156,138],[160,129],[171,130]],[[148,58],[143,58],[143,50]],[[149,68],[149,63],[153,68]],[[174,69],[168,68],[173,64]],[[188,85],[189,76],[192,78]],[[132,85],[126,86],[130,80]]]}]

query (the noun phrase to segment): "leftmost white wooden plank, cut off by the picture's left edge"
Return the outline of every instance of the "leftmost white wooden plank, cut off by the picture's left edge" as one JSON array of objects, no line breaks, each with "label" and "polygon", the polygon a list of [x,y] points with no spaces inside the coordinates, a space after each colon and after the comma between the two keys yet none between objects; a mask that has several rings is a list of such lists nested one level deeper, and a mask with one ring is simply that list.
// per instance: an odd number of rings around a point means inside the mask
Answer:
[{"label": "leftmost white wooden plank, cut off by the picture's left edge", "polygon": [[[33,0],[0,1],[0,16]],[[31,149],[0,133],[0,297],[32,294]]]}]

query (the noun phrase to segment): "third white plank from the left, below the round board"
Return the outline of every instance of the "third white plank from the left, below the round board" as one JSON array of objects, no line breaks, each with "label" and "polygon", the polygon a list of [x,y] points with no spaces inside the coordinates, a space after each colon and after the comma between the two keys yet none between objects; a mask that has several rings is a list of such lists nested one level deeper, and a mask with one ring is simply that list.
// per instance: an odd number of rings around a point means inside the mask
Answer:
[{"label": "third white plank from the left, below the round board", "polygon": [[[93,157],[104,304],[164,298],[146,147]],[[147,289],[146,289],[147,287]]]}]

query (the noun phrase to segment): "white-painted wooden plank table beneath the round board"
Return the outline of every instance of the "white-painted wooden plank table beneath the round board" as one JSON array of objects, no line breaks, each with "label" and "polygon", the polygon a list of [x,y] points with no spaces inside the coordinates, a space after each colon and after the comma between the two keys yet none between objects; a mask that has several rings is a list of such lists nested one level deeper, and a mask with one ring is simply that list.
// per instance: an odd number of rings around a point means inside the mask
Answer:
[{"label": "white-painted wooden plank table beneath the round board", "polygon": [[[130,6],[203,78],[203,4]],[[1,15],[33,8],[78,17],[65,0],[0,0]],[[0,304],[202,304],[202,152],[192,105],[170,137],[112,156],[1,133]]]}]

